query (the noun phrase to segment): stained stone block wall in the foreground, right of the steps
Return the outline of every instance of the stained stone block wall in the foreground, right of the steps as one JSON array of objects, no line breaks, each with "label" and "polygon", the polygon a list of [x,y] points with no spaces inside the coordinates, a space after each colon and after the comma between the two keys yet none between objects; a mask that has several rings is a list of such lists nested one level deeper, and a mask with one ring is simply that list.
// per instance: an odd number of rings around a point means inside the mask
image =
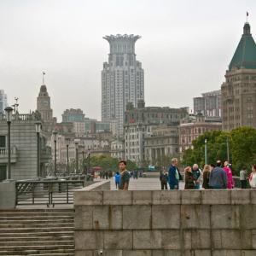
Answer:
[{"label": "stained stone block wall in the foreground, right of the steps", "polygon": [[256,190],[75,192],[75,255],[256,255]]}]

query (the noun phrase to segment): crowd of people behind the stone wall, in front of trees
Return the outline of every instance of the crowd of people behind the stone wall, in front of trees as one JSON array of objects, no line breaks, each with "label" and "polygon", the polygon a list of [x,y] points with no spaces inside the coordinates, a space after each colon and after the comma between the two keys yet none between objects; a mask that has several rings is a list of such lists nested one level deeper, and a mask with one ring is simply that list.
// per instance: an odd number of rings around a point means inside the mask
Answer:
[{"label": "crowd of people behind the stone wall, in front of trees", "polygon": [[[183,177],[184,176],[184,177]],[[232,169],[228,161],[218,160],[216,164],[205,165],[203,170],[197,164],[184,168],[184,175],[177,168],[177,158],[172,159],[172,165],[168,172],[166,169],[160,173],[161,189],[179,189],[179,181],[184,181],[184,189],[233,189],[235,187]],[[247,180],[250,188],[256,189],[256,166],[252,166],[252,172],[247,175],[243,168],[240,172],[241,189],[247,188]]]}]

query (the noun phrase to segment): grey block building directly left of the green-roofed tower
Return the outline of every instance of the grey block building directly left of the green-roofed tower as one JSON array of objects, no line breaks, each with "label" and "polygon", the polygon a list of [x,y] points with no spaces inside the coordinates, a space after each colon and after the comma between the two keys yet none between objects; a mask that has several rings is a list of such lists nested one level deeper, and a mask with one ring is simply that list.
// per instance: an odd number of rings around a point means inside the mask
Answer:
[{"label": "grey block building directly left of the green-roofed tower", "polygon": [[204,116],[221,116],[221,90],[213,90],[202,93],[201,97],[194,98],[194,114],[201,113]]}]

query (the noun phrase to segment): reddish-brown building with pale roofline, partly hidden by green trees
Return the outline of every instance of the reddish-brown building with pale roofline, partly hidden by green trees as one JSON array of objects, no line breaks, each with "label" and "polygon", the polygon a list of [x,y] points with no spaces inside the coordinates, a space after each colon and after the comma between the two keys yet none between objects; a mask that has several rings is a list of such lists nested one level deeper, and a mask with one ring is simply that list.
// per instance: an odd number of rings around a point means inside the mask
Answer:
[{"label": "reddish-brown building with pale roofline, partly hidden by green trees", "polygon": [[179,135],[179,153],[192,147],[192,142],[200,137],[206,131],[221,130],[221,119],[207,118],[198,114],[190,114],[188,118],[183,119],[178,127]]}]

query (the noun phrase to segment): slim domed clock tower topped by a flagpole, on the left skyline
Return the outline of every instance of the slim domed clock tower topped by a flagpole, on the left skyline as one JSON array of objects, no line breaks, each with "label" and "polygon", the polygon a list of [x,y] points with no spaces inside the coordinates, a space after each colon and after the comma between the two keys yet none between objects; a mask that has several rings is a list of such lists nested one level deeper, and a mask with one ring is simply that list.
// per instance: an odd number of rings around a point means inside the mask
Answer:
[{"label": "slim domed clock tower topped by a flagpole, on the left skyline", "polygon": [[44,122],[52,122],[53,113],[52,109],[50,108],[50,97],[45,84],[42,84],[40,87],[37,99],[37,110],[39,113],[41,113],[41,117]]}]

